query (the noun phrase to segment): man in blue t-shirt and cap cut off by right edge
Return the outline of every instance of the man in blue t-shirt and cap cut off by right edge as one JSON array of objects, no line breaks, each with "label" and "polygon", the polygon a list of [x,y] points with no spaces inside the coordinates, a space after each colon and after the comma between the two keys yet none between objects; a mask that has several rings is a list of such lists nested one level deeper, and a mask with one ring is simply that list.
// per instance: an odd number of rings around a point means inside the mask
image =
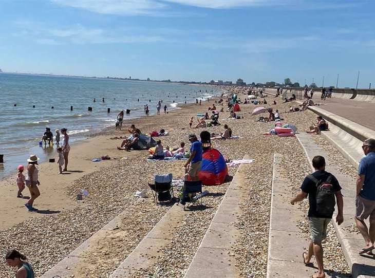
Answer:
[{"label": "man in blue t-shirt and cap cut off by right edge", "polygon": [[[355,198],[355,224],[357,224],[366,246],[360,254],[374,255],[375,242],[375,139],[367,139],[362,145],[365,157],[361,159],[357,178],[357,195]],[[364,219],[370,216],[368,229]]]}]

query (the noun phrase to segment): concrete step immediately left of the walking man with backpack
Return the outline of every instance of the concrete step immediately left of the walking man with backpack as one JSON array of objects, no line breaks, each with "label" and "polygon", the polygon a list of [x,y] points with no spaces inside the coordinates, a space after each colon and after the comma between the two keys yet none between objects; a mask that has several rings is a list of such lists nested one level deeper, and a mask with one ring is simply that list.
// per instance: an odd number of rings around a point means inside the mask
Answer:
[{"label": "concrete step immediately left of the walking man with backpack", "polygon": [[281,155],[274,155],[267,278],[311,277],[315,269],[302,262],[303,247],[308,246],[308,241],[296,226],[304,212],[289,203],[290,181],[280,175],[281,159]]}]

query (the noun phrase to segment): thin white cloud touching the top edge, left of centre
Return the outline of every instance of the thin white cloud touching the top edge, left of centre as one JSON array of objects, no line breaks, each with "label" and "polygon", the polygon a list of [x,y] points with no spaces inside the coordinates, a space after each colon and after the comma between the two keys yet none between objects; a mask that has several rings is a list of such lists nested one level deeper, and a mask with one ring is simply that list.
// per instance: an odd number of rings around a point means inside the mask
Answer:
[{"label": "thin white cloud touching the top edge, left of centre", "polygon": [[61,6],[114,15],[155,15],[166,7],[151,0],[52,0]]}]

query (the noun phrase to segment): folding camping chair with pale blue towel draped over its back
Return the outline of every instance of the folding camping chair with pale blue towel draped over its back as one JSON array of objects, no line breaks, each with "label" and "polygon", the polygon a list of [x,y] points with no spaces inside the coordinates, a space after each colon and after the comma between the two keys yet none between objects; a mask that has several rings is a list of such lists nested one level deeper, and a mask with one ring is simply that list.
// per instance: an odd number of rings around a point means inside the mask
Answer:
[{"label": "folding camping chair with pale blue towel draped over its back", "polygon": [[154,196],[156,205],[158,202],[173,201],[172,173],[155,175],[154,183],[148,183]]}]

